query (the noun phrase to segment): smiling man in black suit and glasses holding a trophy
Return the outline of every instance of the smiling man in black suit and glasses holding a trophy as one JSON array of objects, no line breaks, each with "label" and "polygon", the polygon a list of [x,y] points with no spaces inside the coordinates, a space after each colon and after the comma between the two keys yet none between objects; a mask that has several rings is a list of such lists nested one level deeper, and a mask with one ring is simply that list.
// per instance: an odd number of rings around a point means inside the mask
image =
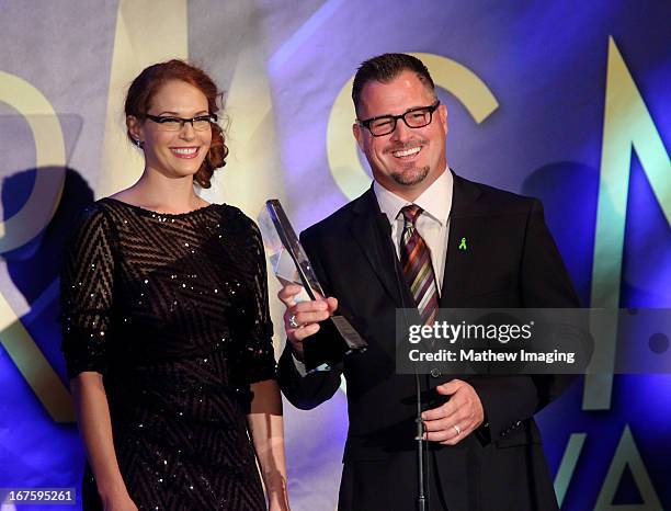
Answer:
[{"label": "smiling man in black suit and glasses holding a trophy", "polygon": [[[430,320],[437,306],[578,307],[578,298],[539,202],[447,167],[447,111],[419,59],[386,54],[363,63],[352,98],[354,137],[375,181],[302,236],[325,291],[338,299],[296,304],[298,286],[280,292],[289,341],[280,383],[292,404],[310,409],[337,391],[344,374],[350,429],[339,509],[407,511],[418,495],[416,379],[395,373],[395,310],[412,304]],[[459,250],[464,240],[468,250]],[[368,349],[306,375],[303,342],[331,336],[319,322],[337,308]],[[567,379],[436,370],[420,381],[428,400],[427,509],[557,509],[533,415]]]}]

